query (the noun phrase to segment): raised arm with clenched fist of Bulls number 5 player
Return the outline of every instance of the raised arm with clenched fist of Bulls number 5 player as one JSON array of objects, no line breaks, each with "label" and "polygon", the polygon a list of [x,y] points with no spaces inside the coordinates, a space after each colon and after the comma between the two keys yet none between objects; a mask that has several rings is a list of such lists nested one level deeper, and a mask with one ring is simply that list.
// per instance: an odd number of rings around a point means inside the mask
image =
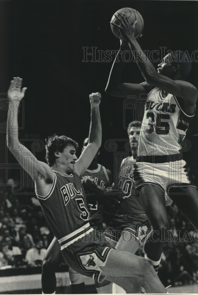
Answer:
[{"label": "raised arm with clenched fist of Bulls number 5 player", "polygon": [[75,170],[78,172],[79,176],[82,175],[82,173],[84,173],[91,164],[98,149],[100,148],[102,140],[102,127],[99,109],[101,94],[99,92],[92,93],[90,94],[89,98],[91,104],[89,142],[75,163]]}]

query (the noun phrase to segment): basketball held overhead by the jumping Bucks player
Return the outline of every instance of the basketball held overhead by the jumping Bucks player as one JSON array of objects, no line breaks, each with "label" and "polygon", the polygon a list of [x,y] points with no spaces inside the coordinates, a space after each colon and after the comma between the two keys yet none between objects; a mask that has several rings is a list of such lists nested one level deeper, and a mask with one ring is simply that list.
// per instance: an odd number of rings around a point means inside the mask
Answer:
[{"label": "basketball held overhead by the jumping Bucks player", "polygon": [[[119,20],[116,19],[115,14],[117,13],[125,13],[125,16],[129,19],[129,22],[131,22],[132,24],[137,20],[137,24],[136,24],[136,32],[134,34],[134,37],[137,38],[141,35],[143,28],[144,28],[144,20],[142,18],[142,15],[135,9],[133,8],[121,8],[118,11],[116,11],[116,13],[113,14],[113,17],[111,18],[111,23],[113,24],[120,24]],[[119,28],[114,26],[113,24],[111,24],[111,30],[113,32],[113,34],[119,38],[119,39],[123,39],[122,35],[120,34]]]}]

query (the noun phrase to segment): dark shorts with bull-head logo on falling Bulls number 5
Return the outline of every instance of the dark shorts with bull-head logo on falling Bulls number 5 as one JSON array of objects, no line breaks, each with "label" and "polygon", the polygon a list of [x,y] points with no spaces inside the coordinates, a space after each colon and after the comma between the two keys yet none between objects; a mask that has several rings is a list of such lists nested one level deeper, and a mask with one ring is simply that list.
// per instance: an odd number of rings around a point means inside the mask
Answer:
[{"label": "dark shorts with bull-head logo on falling Bulls number 5", "polygon": [[102,282],[105,276],[102,275],[100,267],[105,266],[112,249],[111,245],[105,242],[103,233],[93,229],[89,234],[61,250],[61,253],[67,265],[74,271]]}]

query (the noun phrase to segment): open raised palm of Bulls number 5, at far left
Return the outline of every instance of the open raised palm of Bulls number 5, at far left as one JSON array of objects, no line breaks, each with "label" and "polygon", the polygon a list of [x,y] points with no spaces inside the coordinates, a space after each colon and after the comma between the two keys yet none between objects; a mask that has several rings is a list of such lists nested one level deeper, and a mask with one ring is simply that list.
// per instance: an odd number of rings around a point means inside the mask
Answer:
[{"label": "open raised palm of Bulls number 5, at far left", "polygon": [[26,87],[22,88],[22,78],[14,77],[13,80],[10,82],[10,86],[8,89],[8,97],[10,100],[21,100],[26,91]]}]

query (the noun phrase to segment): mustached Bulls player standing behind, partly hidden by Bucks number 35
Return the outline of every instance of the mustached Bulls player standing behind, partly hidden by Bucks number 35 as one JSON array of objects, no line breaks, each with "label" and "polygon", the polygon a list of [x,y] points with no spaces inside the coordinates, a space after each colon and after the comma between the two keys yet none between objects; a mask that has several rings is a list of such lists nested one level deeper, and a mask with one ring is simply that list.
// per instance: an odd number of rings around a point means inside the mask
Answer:
[{"label": "mustached Bulls player standing behind, partly hidden by Bucks number 35", "polygon": [[[117,207],[106,229],[106,235],[112,239],[111,245],[130,253],[136,253],[151,230],[151,224],[142,208],[141,200],[134,193],[133,166],[137,157],[141,125],[139,121],[129,123],[127,131],[132,155],[122,161],[119,172],[119,188],[124,192],[122,194],[124,199]],[[134,279],[132,293],[141,293],[141,287],[140,281]],[[113,293],[121,294],[124,290],[113,284]]]}]

